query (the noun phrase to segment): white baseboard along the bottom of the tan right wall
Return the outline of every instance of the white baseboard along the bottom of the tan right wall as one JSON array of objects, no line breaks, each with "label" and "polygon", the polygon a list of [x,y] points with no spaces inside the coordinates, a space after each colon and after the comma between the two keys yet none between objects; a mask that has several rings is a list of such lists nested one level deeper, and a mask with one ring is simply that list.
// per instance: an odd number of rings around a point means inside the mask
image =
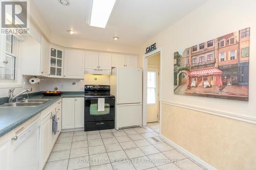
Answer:
[{"label": "white baseboard along the bottom of the tan right wall", "polygon": [[181,151],[185,155],[189,156],[190,158],[192,158],[193,160],[195,160],[199,164],[203,165],[205,168],[207,168],[209,170],[217,170],[217,168],[215,168],[215,167],[211,166],[210,164],[206,163],[205,161],[203,161],[202,159],[200,159],[196,155],[194,155],[194,154],[190,153],[189,151],[185,150],[180,145],[178,145],[177,143],[173,142],[172,140],[166,138],[165,136],[160,135],[159,137],[161,139],[163,139],[164,141],[166,141],[168,144],[173,145],[174,148],[178,149],[179,151]]}]

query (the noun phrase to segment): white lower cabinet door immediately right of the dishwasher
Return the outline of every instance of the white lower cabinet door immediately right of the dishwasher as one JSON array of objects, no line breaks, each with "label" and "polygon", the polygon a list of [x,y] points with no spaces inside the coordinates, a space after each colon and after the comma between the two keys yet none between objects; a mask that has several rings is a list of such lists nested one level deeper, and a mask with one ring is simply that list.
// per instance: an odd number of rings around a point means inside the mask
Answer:
[{"label": "white lower cabinet door immediately right of the dishwasher", "polygon": [[50,154],[50,135],[51,135],[51,121],[50,121],[51,113],[48,114],[42,121],[41,121],[41,130],[40,130],[40,169],[47,161],[48,155]]}]

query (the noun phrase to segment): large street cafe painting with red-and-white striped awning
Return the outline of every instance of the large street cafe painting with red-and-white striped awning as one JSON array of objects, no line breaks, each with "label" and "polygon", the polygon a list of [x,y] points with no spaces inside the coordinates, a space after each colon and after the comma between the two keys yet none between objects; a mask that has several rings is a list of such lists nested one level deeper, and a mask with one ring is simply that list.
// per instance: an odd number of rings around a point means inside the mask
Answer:
[{"label": "large street cafe painting with red-and-white striped awning", "polygon": [[248,101],[250,28],[174,53],[174,93]]}]

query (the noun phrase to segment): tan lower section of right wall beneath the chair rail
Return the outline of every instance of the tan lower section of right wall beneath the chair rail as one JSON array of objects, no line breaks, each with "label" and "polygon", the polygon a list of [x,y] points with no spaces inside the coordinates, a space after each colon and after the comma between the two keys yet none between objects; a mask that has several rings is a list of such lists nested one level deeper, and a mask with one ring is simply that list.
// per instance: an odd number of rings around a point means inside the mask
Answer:
[{"label": "tan lower section of right wall beneath the chair rail", "polygon": [[167,104],[161,134],[217,169],[256,169],[256,125]]}]

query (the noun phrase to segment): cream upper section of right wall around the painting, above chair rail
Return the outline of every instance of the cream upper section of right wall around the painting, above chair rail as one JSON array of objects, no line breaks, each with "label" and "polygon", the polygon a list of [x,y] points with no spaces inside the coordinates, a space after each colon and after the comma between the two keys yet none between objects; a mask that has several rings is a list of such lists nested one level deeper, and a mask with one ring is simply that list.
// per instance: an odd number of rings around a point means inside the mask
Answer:
[{"label": "cream upper section of right wall around the painting, above chair rail", "polygon": [[[255,6],[254,0],[210,0],[142,45],[141,56],[154,42],[162,47],[162,100],[256,118]],[[174,52],[246,27],[251,28],[248,102],[174,94]]]}]

